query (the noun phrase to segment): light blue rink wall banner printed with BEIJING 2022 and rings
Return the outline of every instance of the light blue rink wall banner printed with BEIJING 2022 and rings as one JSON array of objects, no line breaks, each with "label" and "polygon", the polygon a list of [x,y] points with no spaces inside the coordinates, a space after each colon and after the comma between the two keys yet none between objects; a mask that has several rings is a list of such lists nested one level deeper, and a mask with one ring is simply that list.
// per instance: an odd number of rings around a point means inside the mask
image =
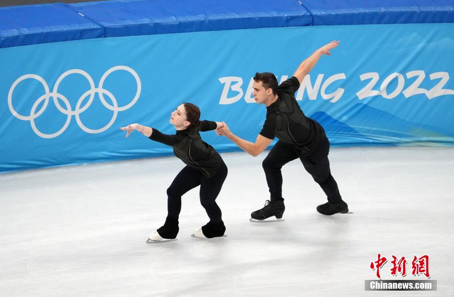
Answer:
[{"label": "light blue rink wall banner printed with BEIJING 2022 and rings", "polygon": [[[248,46],[263,40],[279,40],[271,58]],[[187,101],[254,141],[266,116],[251,94],[255,72],[287,79],[331,40],[341,43],[296,99],[332,145],[454,145],[454,24],[224,30],[0,49],[0,172],[170,155],[119,127],[175,133],[170,113]],[[240,150],[212,131],[202,137]]]}]

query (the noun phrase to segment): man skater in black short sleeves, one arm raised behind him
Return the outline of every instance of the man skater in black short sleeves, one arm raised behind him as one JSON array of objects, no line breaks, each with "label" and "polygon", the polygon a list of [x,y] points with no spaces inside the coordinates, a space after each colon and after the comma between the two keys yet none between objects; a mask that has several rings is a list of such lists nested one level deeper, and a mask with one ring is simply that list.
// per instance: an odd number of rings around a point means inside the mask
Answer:
[{"label": "man skater in black short sleeves, one arm raised behind him", "polygon": [[347,203],[339,194],[336,181],[331,176],[328,159],[330,142],[325,130],[317,121],[304,115],[294,96],[301,81],[318,59],[322,55],[329,56],[330,50],[338,44],[339,41],[332,41],[316,50],[299,65],[292,78],[280,85],[272,73],[255,74],[253,96],[257,103],[267,106],[267,118],[255,143],[234,135],[224,122],[224,126],[216,130],[254,157],[263,152],[275,137],[279,139],[262,164],[271,201],[267,200],[265,207],[254,211],[251,214],[253,219],[263,220],[272,216],[282,218],[285,205],[282,198],[281,168],[296,158],[301,160],[306,171],[327,195],[328,202],[317,206],[317,211],[327,216],[349,211]]}]

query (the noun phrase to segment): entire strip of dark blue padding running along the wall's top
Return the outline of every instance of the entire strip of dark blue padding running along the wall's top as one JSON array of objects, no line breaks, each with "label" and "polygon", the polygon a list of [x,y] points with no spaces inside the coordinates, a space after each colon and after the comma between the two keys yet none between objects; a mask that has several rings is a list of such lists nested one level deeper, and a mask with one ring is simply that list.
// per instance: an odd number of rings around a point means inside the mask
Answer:
[{"label": "entire strip of dark blue padding running along the wall's top", "polygon": [[313,25],[454,22],[452,0],[110,0],[0,8],[0,48]]}]

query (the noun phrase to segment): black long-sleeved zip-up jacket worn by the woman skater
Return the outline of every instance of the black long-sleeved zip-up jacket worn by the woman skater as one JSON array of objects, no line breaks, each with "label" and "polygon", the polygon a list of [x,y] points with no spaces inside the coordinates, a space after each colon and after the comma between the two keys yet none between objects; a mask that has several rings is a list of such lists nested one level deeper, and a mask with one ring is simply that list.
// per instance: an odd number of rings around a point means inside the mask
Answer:
[{"label": "black long-sleeved zip-up jacket worn by the woman skater", "polygon": [[216,122],[202,120],[198,126],[179,130],[176,135],[167,135],[153,128],[149,139],[173,147],[173,153],[177,158],[211,178],[224,161],[211,145],[202,140],[199,131],[211,131],[216,127]]}]

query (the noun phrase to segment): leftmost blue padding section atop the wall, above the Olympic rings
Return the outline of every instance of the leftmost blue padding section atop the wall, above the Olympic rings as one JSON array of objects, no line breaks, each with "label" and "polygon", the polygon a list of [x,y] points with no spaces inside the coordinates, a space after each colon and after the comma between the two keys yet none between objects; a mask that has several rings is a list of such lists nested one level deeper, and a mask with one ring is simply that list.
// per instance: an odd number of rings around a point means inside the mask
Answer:
[{"label": "leftmost blue padding section atop the wall, above the Olympic rings", "polygon": [[0,8],[0,48],[104,37],[104,28],[62,3]]}]

